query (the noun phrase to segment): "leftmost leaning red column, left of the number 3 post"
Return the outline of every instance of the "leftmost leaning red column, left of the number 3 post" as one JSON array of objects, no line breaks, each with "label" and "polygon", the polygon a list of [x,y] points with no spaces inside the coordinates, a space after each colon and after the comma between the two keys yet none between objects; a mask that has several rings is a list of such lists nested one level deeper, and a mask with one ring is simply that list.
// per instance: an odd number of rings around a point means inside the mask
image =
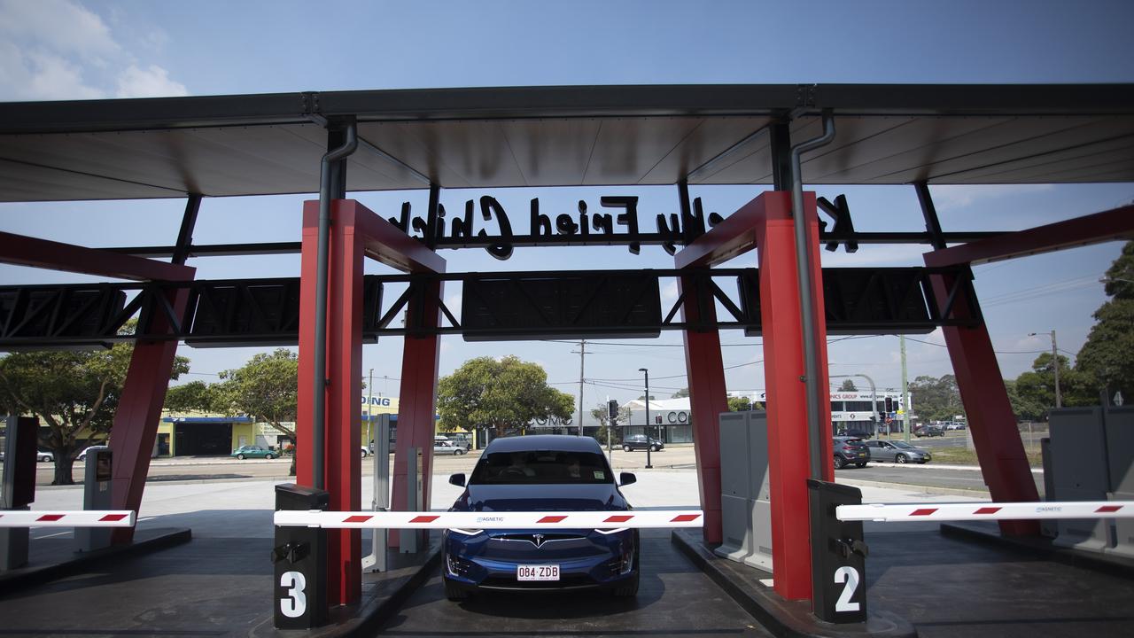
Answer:
[{"label": "leftmost leaning red column, left of the number 3 post", "polygon": [[[192,269],[191,269],[192,270]],[[189,299],[189,291],[181,288],[169,293],[170,305],[181,317]],[[155,312],[155,330],[170,328],[163,313]],[[112,428],[115,457],[111,465],[110,501],[113,510],[141,511],[142,493],[150,473],[150,456],[161,422],[161,408],[166,404],[169,376],[174,370],[177,342],[137,342],[126,371],[122,397],[115,411]],[[115,528],[111,542],[116,545],[134,540],[134,528]]]}]

